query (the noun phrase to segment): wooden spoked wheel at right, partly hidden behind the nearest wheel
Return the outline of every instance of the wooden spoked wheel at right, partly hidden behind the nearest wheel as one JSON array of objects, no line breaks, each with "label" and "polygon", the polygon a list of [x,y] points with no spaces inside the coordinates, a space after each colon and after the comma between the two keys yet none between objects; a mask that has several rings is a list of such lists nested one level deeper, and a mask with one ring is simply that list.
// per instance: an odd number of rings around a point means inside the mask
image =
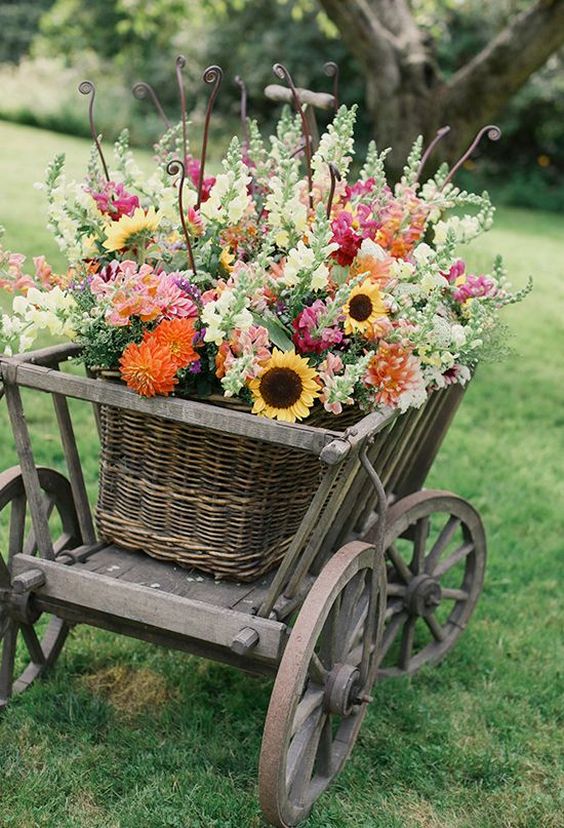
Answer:
[{"label": "wooden spoked wheel at right, partly hidden behind the nearest wheel", "polygon": [[482,590],[484,527],[450,492],[398,500],[386,529],[388,606],[379,676],[413,675],[439,662],[466,627]]}]

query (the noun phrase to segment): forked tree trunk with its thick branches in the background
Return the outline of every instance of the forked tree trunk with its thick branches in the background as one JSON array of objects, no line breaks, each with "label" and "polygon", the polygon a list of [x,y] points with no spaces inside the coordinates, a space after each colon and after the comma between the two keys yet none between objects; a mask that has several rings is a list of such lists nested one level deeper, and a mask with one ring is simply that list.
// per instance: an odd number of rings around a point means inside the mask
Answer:
[{"label": "forked tree trunk with its thick branches in the background", "polygon": [[429,141],[445,124],[452,132],[441,144],[443,158],[459,157],[564,44],[564,0],[537,0],[447,81],[407,0],[320,3],[364,69],[374,137],[381,148],[393,147],[392,177],[401,173],[415,138],[421,134]]}]

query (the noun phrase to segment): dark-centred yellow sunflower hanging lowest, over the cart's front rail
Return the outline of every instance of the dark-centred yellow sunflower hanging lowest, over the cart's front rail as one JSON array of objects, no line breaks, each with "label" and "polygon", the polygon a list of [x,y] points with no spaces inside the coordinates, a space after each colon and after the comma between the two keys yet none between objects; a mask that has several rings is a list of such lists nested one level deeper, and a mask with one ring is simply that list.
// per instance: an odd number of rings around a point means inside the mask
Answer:
[{"label": "dark-centred yellow sunflower hanging lowest, over the cart's front rail", "polygon": [[319,394],[316,376],[307,359],[275,348],[261,375],[249,383],[254,397],[253,414],[285,423],[307,417]]}]

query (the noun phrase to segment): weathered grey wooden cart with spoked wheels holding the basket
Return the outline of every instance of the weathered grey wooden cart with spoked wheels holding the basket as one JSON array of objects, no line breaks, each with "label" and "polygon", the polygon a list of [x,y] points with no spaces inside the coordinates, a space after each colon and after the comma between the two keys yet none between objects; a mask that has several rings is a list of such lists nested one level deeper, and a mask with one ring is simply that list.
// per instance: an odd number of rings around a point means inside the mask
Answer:
[{"label": "weathered grey wooden cart with spoked wheels holding the basket", "polygon": [[[436,663],[476,604],[486,554],[480,517],[454,494],[422,489],[462,391],[451,386],[417,411],[371,414],[337,432],[146,400],[61,370],[76,352],[56,346],[0,362],[20,460],[0,476],[0,510],[10,512],[0,557],[0,707],[45,673],[77,623],[273,675],[260,800],[273,825],[297,825],[341,770],[377,676]],[[68,479],[36,466],[22,388],[52,396]],[[217,581],[99,540],[69,397],[96,413],[141,411],[309,453],[318,486],[280,565],[252,583]],[[19,641],[27,666],[14,675]]]}]

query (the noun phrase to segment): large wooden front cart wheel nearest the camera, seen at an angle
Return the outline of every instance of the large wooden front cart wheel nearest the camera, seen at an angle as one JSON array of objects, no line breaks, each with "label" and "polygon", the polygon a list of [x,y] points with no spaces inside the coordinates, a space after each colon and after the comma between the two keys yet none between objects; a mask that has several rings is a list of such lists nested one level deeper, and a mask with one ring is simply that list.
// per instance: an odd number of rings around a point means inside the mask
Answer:
[{"label": "large wooden front cart wheel nearest the camera, seen at an angle", "polygon": [[326,564],[302,605],[262,740],[260,802],[272,825],[306,819],[353,748],[371,700],[385,596],[383,558],[355,541]]}]

